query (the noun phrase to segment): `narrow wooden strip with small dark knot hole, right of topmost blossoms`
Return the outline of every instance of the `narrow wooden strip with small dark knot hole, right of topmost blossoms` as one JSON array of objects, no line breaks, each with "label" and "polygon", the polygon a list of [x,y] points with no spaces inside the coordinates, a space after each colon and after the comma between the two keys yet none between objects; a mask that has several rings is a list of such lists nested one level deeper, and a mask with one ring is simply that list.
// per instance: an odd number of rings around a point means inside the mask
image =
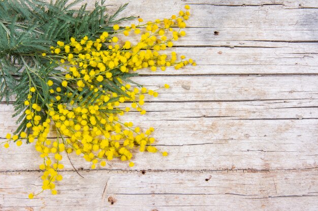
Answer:
[{"label": "narrow wooden strip with small dark knot hole, right of topmost blossoms", "polygon": [[[262,28],[234,28],[214,27],[202,28],[186,27],[185,37],[174,40],[175,46],[190,47],[227,47],[227,48],[285,48],[289,51],[306,51],[316,49],[315,30],[262,29]],[[139,41],[140,34],[130,33],[129,36],[117,34],[119,40],[130,39]],[[119,41],[120,43],[120,41]],[[300,48],[301,46],[301,48]],[[274,49],[275,50],[275,49]]]}]

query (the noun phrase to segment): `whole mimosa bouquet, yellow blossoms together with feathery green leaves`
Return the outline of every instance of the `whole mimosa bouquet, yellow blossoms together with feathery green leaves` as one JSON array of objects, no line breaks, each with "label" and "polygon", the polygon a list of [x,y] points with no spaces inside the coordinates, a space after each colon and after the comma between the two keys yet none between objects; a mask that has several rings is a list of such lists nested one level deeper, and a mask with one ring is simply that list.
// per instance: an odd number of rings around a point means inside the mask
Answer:
[{"label": "whole mimosa bouquet, yellow blossoms together with feathery green leaves", "polygon": [[[132,77],[143,68],[196,65],[163,52],[185,35],[189,6],[178,15],[145,23],[117,18],[127,5],[108,15],[105,1],[92,11],[86,5],[72,9],[80,2],[0,1],[0,98],[7,103],[14,98],[13,116],[18,116],[16,131],[1,144],[34,144],[42,160],[39,193],[57,193],[55,182],[62,180],[59,171],[69,153],[82,156],[94,169],[113,159],[132,167],[138,150],[159,152],[152,146],[154,129],[141,130],[124,115],[132,110],[144,115],[145,99],[169,85],[149,90]],[[132,20],[129,26],[118,25]],[[57,138],[49,139],[49,134]]]}]

